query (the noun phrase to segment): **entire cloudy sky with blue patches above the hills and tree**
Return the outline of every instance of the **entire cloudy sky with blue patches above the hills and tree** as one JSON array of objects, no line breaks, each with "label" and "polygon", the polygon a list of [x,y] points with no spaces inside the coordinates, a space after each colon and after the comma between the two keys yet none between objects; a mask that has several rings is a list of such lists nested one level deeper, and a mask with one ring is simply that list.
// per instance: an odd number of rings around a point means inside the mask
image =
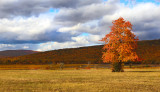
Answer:
[{"label": "entire cloudy sky with blue patches above the hills and tree", "polygon": [[160,39],[160,0],[0,0],[0,50],[100,45],[123,17],[140,40]]}]

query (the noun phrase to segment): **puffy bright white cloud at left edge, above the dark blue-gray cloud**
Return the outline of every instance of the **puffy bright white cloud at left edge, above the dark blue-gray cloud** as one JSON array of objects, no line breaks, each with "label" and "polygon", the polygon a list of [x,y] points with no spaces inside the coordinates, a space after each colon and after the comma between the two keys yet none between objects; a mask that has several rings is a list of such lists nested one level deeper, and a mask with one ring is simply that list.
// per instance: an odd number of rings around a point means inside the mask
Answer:
[{"label": "puffy bright white cloud at left edge, above the dark blue-gray cloud", "polygon": [[[15,18],[13,20],[0,20],[0,33],[13,32],[17,34],[17,40],[34,39],[36,34],[43,33],[51,28],[51,20],[47,18]],[[28,36],[28,37],[27,37]],[[13,38],[12,38],[13,39]]]}]

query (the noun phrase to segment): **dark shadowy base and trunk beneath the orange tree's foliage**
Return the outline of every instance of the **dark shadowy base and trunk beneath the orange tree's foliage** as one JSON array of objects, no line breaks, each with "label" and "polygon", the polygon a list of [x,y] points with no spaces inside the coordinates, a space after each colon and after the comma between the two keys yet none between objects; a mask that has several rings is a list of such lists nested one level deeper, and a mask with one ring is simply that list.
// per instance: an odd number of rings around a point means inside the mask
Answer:
[{"label": "dark shadowy base and trunk beneath the orange tree's foliage", "polygon": [[112,63],[112,72],[124,72],[123,63],[121,61],[113,62]]}]

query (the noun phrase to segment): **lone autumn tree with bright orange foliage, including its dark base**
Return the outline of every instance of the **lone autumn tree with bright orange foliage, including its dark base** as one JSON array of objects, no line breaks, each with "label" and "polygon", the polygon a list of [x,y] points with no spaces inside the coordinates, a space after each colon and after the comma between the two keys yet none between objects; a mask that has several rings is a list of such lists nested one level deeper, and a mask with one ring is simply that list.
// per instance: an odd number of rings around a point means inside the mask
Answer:
[{"label": "lone autumn tree with bright orange foliage, including its dark base", "polygon": [[112,72],[123,72],[124,62],[138,59],[135,51],[138,38],[131,32],[129,21],[120,17],[112,23],[111,32],[101,40],[105,42],[102,59],[105,63],[112,63]]}]

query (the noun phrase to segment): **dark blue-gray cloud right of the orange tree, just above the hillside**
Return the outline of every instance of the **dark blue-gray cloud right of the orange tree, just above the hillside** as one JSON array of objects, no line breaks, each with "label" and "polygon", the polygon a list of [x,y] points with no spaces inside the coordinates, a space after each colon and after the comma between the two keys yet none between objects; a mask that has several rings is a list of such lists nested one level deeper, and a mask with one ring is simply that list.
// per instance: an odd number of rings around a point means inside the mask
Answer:
[{"label": "dark blue-gray cloud right of the orange tree, just above the hillside", "polygon": [[153,19],[150,22],[137,22],[133,24],[133,30],[140,40],[160,39],[160,22]]}]

